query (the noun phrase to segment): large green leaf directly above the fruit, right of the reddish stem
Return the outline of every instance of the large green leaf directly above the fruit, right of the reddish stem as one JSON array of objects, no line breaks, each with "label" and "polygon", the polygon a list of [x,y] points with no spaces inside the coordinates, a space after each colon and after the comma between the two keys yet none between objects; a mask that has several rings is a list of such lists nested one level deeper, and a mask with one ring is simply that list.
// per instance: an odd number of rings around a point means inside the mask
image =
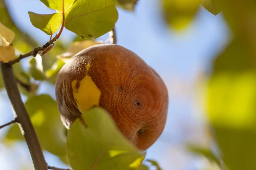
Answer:
[{"label": "large green leaf directly above the fruit, right of the reddish stem", "polygon": [[77,0],[67,14],[65,28],[84,39],[96,39],[115,27],[113,0]]}]

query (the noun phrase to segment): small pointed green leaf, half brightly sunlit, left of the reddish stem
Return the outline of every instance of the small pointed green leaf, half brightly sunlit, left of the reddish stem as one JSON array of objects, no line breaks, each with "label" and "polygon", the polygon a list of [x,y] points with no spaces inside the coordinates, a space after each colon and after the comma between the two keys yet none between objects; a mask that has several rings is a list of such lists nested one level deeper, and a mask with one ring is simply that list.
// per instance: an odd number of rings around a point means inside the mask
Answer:
[{"label": "small pointed green leaf, half brightly sunlit, left of the reddish stem", "polygon": [[58,31],[62,22],[61,13],[36,14],[29,12],[29,18],[34,27],[41,29],[48,35],[52,35]]}]

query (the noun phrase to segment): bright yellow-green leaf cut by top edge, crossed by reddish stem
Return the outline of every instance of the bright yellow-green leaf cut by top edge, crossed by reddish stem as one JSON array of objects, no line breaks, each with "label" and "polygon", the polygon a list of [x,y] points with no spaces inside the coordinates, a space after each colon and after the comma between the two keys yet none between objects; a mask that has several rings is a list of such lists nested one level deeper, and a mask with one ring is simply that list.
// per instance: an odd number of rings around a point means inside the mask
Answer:
[{"label": "bright yellow-green leaf cut by top edge, crossed by reddish stem", "polygon": [[[64,2],[63,2],[64,1]],[[69,9],[75,0],[41,0],[47,7],[55,9],[57,11],[62,11],[63,3],[64,3],[64,11]]]}]

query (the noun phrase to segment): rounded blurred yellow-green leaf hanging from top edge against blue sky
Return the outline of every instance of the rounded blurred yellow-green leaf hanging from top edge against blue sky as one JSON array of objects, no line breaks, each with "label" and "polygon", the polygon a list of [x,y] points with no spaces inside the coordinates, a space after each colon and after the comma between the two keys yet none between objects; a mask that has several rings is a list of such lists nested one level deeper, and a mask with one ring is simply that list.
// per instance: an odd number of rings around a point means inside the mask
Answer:
[{"label": "rounded blurred yellow-green leaf hanging from top edge against blue sky", "polygon": [[186,28],[195,17],[200,0],[163,0],[166,22],[175,30]]}]

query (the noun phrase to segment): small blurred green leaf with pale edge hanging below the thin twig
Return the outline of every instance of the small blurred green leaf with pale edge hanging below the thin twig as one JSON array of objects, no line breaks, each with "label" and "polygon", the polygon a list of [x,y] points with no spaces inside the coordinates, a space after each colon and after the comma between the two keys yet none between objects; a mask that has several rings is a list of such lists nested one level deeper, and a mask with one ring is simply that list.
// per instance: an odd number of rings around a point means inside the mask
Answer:
[{"label": "small blurred green leaf with pale edge hanging below the thin twig", "polygon": [[29,74],[35,79],[35,80],[44,80],[45,76],[44,73],[38,68],[37,61],[35,58],[32,58],[29,61]]}]

